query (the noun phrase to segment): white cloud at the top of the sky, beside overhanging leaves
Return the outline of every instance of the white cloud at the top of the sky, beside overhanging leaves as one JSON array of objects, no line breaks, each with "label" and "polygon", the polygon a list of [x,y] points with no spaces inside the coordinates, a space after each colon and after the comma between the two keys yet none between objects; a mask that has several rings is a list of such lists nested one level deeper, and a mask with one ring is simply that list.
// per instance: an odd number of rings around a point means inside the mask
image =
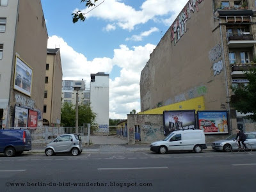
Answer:
[{"label": "white cloud at the top of the sky, beside overhanging leaves", "polygon": [[[173,15],[175,15],[175,18],[187,2],[188,0],[146,0],[141,4],[140,10],[135,10],[118,0],[108,0],[104,1],[104,3],[100,4],[94,10],[92,8],[86,8],[81,11],[87,13],[89,10],[92,10],[92,12],[86,14],[87,19],[97,17],[115,22],[120,28],[131,31],[134,29],[134,26],[145,24],[148,20],[156,20],[159,16],[165,15],[168,17],[170,15],[171,19],[173,19]],[[76,10],[79,9],[76,8]]]}]

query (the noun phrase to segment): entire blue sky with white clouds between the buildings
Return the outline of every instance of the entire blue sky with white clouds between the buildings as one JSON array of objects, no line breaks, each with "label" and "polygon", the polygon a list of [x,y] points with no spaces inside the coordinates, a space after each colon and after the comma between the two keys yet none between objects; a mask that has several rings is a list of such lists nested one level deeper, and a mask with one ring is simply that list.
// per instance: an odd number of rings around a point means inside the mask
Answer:
[{"label": "entire blue sky with white clouds between the buildings", "polygon": [[[150,53],[188,0],[99,0],[84,22],[72,12],[80,0],[42,0],[48,48],[60,47],[63,79],[86,80],[109,74],[109,118],[140,111],[140,72]],[[99,2],[99,3],[98,3]],[[90,8],[91,9],[91,8]]]}]

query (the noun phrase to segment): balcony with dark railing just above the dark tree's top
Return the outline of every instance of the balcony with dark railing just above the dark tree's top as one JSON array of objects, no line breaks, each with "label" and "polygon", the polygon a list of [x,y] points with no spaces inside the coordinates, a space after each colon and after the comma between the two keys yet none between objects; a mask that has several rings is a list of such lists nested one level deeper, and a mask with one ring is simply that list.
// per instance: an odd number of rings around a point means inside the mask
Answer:
[{"label": "balcony with dark railing just above the dark tree's top", "polygon": [[236,63],[236,64],[231,64],[231,76],[232,77],[245,77],[245,72],[256,68],[256,63]]}]

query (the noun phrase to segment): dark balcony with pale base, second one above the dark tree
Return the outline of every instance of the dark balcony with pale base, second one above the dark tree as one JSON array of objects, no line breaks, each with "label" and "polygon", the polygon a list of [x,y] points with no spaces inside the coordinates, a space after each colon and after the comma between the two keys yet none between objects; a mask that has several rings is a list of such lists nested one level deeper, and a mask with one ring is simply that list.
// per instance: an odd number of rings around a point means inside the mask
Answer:
[{"label": "dark balcony with pale base, second one above the dark tree", "polygon": [[249,32],[243,32],[240,34],[228,35],[228,47],[230,48],[244,48],[253,47],[256,44],[256,40],[253,38],[253,34]]}]

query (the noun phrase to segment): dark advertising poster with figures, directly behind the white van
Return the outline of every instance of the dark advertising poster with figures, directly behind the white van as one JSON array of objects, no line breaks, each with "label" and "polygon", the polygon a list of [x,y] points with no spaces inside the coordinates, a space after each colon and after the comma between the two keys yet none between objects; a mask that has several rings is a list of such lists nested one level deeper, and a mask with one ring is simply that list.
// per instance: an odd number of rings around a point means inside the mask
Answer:
[{"label": "dark advertising poster with figures, directly behind the white van", "polygon": [[195,110],[164,111],[164,135],[185,129],[196,129]]}]

